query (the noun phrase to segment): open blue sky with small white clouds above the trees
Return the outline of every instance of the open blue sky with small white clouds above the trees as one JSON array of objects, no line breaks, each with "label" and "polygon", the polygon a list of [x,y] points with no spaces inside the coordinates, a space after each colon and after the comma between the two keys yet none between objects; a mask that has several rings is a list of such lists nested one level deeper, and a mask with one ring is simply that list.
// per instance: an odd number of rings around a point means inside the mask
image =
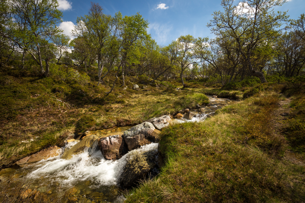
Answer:
[{"label": "open blue sky with small white clouds above the trees", "polygon": [[[235,0],[238,4],[238,0]],[[63,12],[63,23],[60,27],[70,35],[77,16],[88,13],[90,1],[58,0],[59,9]],[[191,34],[194,37],[210,37],[210,29],[206,27],[212,19],[214,11],[222,11],[221,0],[92,0],[99,3],[105,14],[114,15],[120,11],[123,16],[135,15],[139,12],[149,22],[148,33],[159,45],[168,45],[181,35]],[[276,11],[287,11],[291,19],[297,19],[305,12],[305,0],[289,0]]]}]

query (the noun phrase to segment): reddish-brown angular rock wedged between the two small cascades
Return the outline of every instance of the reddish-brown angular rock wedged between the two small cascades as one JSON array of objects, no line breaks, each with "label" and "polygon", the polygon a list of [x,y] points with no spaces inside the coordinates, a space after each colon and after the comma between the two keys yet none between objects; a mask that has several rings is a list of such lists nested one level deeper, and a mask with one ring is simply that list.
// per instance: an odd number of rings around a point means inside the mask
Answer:
[{"label": "reddish-brown angular rock wedged between the two small cascades", "polygon": [[112,135],[99,139],[99,149],[105,159],[120,159],[128,152],[127,144],[123,135]]}]

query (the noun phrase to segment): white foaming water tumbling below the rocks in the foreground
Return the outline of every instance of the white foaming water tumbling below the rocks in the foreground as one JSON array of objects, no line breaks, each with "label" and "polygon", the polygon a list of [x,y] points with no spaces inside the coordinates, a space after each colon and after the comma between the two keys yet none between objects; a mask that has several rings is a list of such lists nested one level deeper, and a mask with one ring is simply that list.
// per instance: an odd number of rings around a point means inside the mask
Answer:
[{"label": "white foaming water tumbling below the rocks in the foreground", "polygon": [[[74,144],[76,143],[68,143],[65,148],[70,148]],[[34,179],[44,177],[63,185],[73,185],[84,180],[91,180],[96,185],[114,185],[126,164],[126,159],[142,151],[157,149],[158,143],[151,143],[132,150],[121,159],[113,161],[106,160],[94,143],[92,148],[73,155],[71,159],[61,159],[60,156],[57,156],[53,160],[40,162],[36,166],[36,170],[32,171],[28,177]]]}]

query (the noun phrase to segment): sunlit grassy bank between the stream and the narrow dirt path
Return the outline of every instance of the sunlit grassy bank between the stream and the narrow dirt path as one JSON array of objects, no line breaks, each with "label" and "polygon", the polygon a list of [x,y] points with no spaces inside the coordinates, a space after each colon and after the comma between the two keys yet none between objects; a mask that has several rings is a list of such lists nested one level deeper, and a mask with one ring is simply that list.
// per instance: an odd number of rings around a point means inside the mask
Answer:
[{"label": "sunlit grassy bank between the stream and the narrow dirt path", "polygon": [[164,129],[160,175],[142,181],[126,202],[303,201],[304,167],[285,159],[286,141],[272,124],[284,99],[260,93],[203,123]]}]

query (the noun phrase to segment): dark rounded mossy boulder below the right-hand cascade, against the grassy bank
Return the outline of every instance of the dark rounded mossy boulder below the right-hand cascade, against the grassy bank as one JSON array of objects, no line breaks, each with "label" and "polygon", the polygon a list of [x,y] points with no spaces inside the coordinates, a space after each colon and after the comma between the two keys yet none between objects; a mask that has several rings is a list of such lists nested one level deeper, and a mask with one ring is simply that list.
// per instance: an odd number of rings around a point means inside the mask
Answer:
[{"label": "dark rounded mossy boulder below the right-hand cascade, against the grassy bank", "polygon": [[126,161],[117,180],[117,185],[123,189],[135,187],[139,180],[153,178],[159,173],[157,147],[144,152],[138,150],[129,152]]}]

